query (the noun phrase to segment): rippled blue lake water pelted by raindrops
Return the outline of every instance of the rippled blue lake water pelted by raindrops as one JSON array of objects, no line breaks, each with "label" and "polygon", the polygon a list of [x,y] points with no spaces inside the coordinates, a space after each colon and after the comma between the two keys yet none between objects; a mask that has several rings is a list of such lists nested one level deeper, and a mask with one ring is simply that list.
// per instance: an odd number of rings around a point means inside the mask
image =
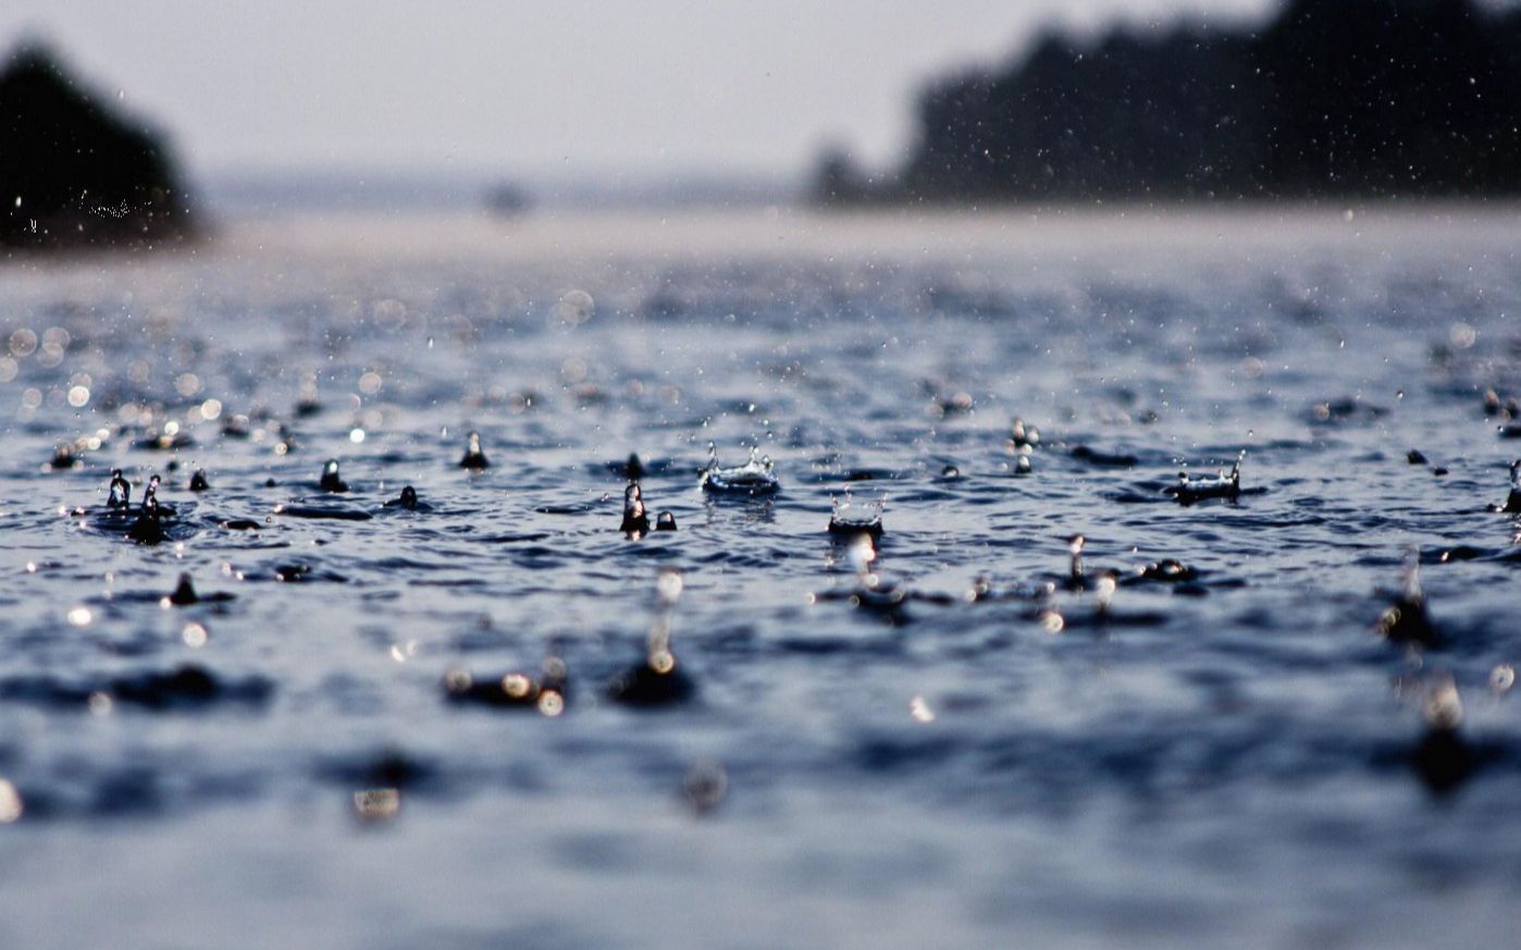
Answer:
[{"label": "rippled blue lake water pelted by raindrops", "polygon": [[[0,945],[1509,942],[1516,225],[330,219],[6,266]],[[780,493],[706,496],[710,442]],[[1164,493],[1241,449],[1240,498]],[[618,531],[630,452],[678,531]],[[1410,547],[1419,652],[1377,635]],[[691,696],[614,702],[666,629]],[[558,716],[444,688],[546,656]]]}]

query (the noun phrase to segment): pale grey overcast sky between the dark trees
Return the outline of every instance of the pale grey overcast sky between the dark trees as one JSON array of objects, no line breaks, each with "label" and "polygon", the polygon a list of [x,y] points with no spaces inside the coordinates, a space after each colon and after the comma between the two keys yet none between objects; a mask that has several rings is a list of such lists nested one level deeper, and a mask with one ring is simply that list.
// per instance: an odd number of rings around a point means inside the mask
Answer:
[{"label": "pale grey overcast sky between the dark trees", "polygon": [[799,172],[826,143],[885,163],[925,79],[1092,29],[1272,0],[260,3],[3,0],[201,172]]}]

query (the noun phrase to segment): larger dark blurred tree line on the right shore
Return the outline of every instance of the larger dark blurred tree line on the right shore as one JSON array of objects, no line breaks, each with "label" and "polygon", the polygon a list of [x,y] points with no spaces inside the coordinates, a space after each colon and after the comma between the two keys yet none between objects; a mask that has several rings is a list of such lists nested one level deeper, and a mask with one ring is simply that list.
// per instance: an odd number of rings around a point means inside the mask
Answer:
[{"label": "larger dark blurred tree line on the right shore", "polygon": [[931,85],[907,161],[843,152],[821,202],[1521,193],[1521,12],[1290,0],[1267,24],[1054,33]]}]

